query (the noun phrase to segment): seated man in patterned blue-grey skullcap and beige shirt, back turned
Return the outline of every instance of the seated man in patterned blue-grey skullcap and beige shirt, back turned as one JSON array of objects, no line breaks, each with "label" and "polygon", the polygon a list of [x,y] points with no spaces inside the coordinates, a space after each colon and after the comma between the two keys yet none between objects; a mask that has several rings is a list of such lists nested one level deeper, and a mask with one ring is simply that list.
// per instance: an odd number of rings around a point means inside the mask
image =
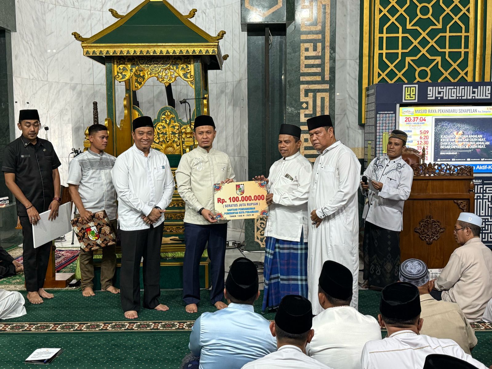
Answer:
[{"label": "seated man in patterned blue-grey skullcap and beige shirt, back turned", "polygon": [[427,265],[418,259],[405,260],[400,264],[400,281],[411,283],[419,289],[420,317],[425,321],[420,333],[435,338],[450,338],[469,354],[477,344],[475,332],[458,304],[436,301],[429,294],[431,283]]}]

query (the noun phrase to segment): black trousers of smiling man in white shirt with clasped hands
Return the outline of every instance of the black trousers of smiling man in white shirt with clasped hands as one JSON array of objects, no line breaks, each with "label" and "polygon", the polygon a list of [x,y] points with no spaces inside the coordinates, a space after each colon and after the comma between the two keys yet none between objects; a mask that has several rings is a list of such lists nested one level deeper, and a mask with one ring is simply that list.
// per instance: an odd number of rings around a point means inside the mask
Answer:
[{"label": "black trousers of smiling man in white shirt with clasped hands", "polygon": [[120,230],[122,245],[121,300],[123,311],[140,310],[140,260],[144,277],[144,307],[153,309],[160,297],[160,245],[164,222],[155,228]]}]

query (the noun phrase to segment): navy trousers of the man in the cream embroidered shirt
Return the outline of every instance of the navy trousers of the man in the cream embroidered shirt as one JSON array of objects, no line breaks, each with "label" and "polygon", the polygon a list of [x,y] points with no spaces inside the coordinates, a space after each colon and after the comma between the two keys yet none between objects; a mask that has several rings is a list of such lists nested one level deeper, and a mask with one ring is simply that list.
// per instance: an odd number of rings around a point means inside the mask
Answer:
[{"label": "navy trousers of the man in the cream embroidered shirt", "polygon": [[200,258],[207,245],[210,258],[212,289],[210,301],[215,304],[224,298],[224,257],[227,223],[184,223],[183,301],[186,305],[200,302]]}]

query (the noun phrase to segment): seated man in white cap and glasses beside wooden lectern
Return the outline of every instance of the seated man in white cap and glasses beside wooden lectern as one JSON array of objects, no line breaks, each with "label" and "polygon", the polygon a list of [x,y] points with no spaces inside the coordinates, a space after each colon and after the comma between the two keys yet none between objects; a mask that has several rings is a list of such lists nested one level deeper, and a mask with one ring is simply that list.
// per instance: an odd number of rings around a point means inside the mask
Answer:
[{"label": "seated man in white cap and glasses beside wooden lectern", "polygon": [[434,281],[431,295],[436,300],[457,303],[468,322],[482,320],[492,298],[492,250],[480,241],[482,218],[461,213],[455,224],[455,238],[462,245],[453,251],[448,264]]}]

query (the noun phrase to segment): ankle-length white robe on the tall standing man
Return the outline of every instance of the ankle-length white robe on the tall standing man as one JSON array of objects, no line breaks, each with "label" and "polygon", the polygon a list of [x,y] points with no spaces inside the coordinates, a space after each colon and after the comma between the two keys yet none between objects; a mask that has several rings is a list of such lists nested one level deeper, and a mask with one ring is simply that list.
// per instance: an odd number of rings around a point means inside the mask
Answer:
[{"label": "ankle-length white robe on the tall standing man", "polygon": [[361,164],[354,152],[337,141],[314,162],[307,208],[322,218],[318,228],[309,222],[307,251],[308,297],[314,315],[323,311],[318,302],[318,279],[326,260],[347,267],[353,276],[350,306],[359,302],[359,188]]}]

